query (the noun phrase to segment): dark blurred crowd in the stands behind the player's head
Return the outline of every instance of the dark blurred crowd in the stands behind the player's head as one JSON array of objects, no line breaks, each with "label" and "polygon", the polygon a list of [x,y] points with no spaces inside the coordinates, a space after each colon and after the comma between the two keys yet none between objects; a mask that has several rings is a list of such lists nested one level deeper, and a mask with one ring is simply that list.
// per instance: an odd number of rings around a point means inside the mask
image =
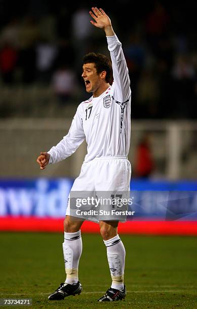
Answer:
[{"label": "dark blurred crowd in the stands behind the player's head", "polygon": [[[81,79],[88,52],[109,55],[102,31],[90,23],[91,2],[1,1],[1,84],[52,87],[66,105]],[[127,60],[132,117],[196,119],[197,4],[127,0],[99,5],[111,17]],[[87,97],[84,92],[84,96]],[[76,102],[79,104],[80,102]]]}]

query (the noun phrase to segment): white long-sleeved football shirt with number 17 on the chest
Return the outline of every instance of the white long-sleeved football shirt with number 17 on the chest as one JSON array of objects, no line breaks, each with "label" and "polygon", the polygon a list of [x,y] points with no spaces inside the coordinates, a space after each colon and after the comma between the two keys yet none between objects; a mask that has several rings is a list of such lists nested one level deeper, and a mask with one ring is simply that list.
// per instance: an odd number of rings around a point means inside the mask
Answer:
[{"label": "white long-sleeved football shirt with number 17 on the chest", "polygon": [[50,164],[72,155],[85,138],[88,144],[85,162],[95,157],[128,155],[131,130],[128,68],[117,36],[107,36],[107,43],[114,81],[100,96],[92,96],[78,106],[68,134],[48,151]]}]

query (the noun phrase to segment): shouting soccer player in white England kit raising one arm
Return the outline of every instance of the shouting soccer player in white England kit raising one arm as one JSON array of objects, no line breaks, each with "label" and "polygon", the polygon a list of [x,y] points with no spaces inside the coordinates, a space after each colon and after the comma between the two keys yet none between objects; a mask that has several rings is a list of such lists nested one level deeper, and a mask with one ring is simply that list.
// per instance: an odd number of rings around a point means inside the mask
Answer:
[{"label": "shouting soccer player in white England kit raising one arm", "polygon": [[[77,108],[70,130],[48,152],[41,152],[37,163],[43,170],[69,157],[86,138],[85,161],[71,188],[72,191],[128,191],[131,165],[127,160],[130,145],[131,90],[122,45],[111,21],[102,9],[92,8],[92,25],[104,30],[111,62],[101,54],[90,53],[83,59],[82,77],[86,91],[93,93]],[[113,74],[113,82],[112,80]],[[111,287],[98,301],[114,301],[126,296],[124,285],[125,248],[117,234],[118,221],[99,221],[100,233],[107,251],[112,278]],[[49,295],[50,300],[80,294],[78,263],[82,253],[83,221],[70,216],[70,205],[64,220],[63,253],[66,280]]]}]

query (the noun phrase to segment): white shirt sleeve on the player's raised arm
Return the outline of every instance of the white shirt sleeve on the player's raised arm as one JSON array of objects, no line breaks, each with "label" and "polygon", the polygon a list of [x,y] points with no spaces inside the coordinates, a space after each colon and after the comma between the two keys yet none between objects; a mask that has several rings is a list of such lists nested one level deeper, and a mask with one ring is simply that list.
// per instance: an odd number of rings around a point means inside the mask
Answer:
[{"label": "white shirt sleeve on the player's raised arm", "polygon": [[122,44],[115,34],[106,38],[112,62],[113,83],[116,90],[115,98],[123,102],[130,97],[131,89],[129,71],[123,54]]}]

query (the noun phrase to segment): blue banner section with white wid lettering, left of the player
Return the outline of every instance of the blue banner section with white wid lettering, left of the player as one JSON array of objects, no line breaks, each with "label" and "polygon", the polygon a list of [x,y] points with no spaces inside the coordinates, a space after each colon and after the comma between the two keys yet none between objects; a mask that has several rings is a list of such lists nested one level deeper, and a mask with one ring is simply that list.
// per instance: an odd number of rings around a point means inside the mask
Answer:
[{"label": "blue banner section with white wid lettering, left of the player", "polygon": [[62,218],[73,180],[0,180],[0,216]]}]

